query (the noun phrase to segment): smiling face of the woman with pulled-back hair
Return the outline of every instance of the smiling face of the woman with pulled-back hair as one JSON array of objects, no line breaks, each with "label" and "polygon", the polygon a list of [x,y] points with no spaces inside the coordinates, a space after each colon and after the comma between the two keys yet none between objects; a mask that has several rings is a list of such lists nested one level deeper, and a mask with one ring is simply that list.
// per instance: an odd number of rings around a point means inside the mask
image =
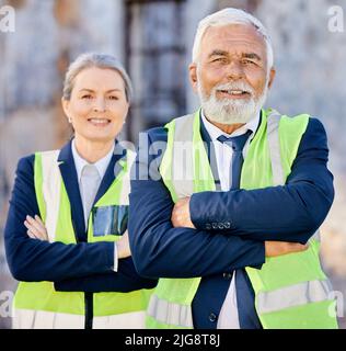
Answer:
[{"label": "smiling face of the woman with pulled-back hair", "polygon": [[129,107],[123,77],[113,69],[85,68],[76,77],[71,98],[62,99],[62,106],[77,138],[114,140]]}]

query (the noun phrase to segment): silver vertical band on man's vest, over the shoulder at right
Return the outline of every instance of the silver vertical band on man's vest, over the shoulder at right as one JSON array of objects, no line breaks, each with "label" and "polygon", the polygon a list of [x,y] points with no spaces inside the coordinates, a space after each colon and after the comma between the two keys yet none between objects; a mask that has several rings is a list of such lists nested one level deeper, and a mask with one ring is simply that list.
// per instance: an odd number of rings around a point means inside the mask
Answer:
[{"label": "silver vertical band on man's vest, over the shoulder at right", "polygon": [[280,156],[279,124],[281,115],[273,110],[267,116],[267,138],[270,152],[273,185],[284,185],[284,168]]}]

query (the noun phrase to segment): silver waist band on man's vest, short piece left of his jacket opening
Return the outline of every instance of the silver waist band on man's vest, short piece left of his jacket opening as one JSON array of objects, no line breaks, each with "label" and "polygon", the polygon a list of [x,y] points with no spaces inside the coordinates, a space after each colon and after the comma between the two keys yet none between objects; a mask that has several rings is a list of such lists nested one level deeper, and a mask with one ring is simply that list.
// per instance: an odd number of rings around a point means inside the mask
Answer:
[{"label": "silver waist band on man's vest, short piece left of his jacket opening", "polygon": [[152,295],[147,310],[155,320],[183,328],[194,328],[191,306],[170,303]]}]

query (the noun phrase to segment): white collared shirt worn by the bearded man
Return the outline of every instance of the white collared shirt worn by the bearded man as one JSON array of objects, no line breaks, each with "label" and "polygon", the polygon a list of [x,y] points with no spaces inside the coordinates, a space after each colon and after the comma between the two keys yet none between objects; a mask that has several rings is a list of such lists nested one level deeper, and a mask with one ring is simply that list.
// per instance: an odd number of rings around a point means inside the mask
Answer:
[{"label": "white collared shirt worn by the bearded man", "polygon": [[[233,150],[227,144],[218,140],[218,137],[224,135],[226,137],[233,137],[245,134],[247,131],[251,131],[249,139],[243,149],[243,156],[245,158],[249,144],[254,137],[260,123],[260,113],[256,113],[254,117],[243,125],[241,128],[234,131],[232,134],[227,134],[219,129],[217,126],[211,124],[201,112],[201,121],[210,136],[210,139],[214,144],[215,156],[218,167],[218,173],[220,179],[221,191],[229,191],[231,189],[232,180],[231,177],[231,167],[232,167],[232,155]],[[220,315],[218,318],[218,329],[240,329],[239,316],[238,316],[238,304],[237,304],[237,290],[235,290],[235,271],[233,272],[231,285],[228,290],[227,296],[222,304]]]}]

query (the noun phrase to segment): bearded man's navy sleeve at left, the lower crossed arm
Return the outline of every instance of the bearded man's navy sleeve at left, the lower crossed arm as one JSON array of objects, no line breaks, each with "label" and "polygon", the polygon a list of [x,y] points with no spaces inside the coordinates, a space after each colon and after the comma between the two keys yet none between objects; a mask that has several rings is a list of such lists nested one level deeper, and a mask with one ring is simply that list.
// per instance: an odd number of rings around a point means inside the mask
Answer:
[{"label": "bearded man's navy sleeve at left, the lower crossed arm", "polygon": [[193,278],[246,265],[261,267],[265,261],[263,242],[172,226],[174,204],[157,171],[155,156],[160,150],[153,147],[150,137],[149,141],[149,154],[153,156],[148,158],[148,151],[139,148],[130,193],[129,240],[139,274]]}]

